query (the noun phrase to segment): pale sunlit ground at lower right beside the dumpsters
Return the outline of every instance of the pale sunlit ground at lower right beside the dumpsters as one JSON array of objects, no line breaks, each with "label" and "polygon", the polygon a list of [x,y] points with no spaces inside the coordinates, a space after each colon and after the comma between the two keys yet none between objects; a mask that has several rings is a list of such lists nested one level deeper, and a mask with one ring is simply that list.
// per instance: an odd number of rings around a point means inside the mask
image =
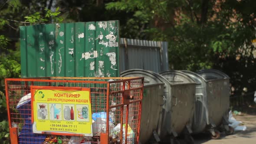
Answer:
[{"label": "pale sunlit ground at lower right beside the dumpsters", "polygon": [[208,134],[199,134],[194,136],[195,144],[256,144],[256,108],[249,108],[246,113],[233,117],[243,122],[246,131],[236,131],[233,135],[223,133],[219,140],[211,140]]}]

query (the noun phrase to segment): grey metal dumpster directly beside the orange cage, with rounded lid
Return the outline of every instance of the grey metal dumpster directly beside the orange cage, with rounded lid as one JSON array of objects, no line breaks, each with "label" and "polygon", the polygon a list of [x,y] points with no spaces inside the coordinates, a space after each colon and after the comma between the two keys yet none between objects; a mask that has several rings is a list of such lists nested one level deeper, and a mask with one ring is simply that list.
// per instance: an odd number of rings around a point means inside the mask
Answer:
[{"label": "grey metal dumpster directly beside the orange cage, with rounded lid", "polygon": [[[142,69],[131,69],[121,73],[121,77],[134,77],[136,75],[144,77],[139,141],[141,144],[147,144],[153,131],[156,131],[158,136],[161,134],[163,95],[164,89],[166,89],[165,79],[157,73]],[[168,85],[167,81],[165,83]]]}]

